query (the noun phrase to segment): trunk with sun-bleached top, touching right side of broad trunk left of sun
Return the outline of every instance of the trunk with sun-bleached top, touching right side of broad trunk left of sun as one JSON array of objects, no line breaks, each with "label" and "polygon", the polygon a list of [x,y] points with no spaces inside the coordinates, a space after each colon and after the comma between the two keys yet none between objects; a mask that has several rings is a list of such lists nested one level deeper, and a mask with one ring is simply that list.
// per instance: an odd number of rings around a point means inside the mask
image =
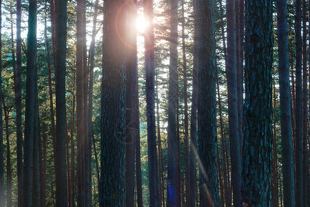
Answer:
[{"label": "trunk with sun-bleached top, touching right side of broad trunk left of sun", "polygon": [[126,206],[134,206],[134,144],[136,141],[136,76],[138,75],[137,67],[137,50],[136,50],[136,0],[127,3],[127,50],[126,50]]}]

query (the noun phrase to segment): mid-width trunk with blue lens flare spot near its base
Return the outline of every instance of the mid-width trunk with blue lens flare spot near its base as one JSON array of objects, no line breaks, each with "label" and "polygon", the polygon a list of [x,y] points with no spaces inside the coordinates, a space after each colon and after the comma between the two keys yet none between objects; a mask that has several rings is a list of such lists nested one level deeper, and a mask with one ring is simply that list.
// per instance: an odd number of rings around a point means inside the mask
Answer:
[{"label": "mid-width trunk with blue lens flare spot near its base", "polygon": [[170,1],[170,61],[168,95],[168,152],[167,152],[167,206],[176,204],[176,97],[177,97],[177,59],[178,59],[178,1]]}]

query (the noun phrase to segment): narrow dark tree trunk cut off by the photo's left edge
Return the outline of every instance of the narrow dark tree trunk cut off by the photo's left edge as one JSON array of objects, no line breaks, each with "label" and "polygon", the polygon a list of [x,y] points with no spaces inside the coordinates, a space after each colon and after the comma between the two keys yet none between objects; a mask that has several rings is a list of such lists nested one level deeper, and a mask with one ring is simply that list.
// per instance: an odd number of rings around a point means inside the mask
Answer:
[{"label": "narrow dark tree trunk cut off by the photo's left edge", "polygon": [[[2,0],[0,0],[0,51],[2,50]],[[3,119],[2,119],[2,51],[0,52],[0,207],[4,207]]]}]

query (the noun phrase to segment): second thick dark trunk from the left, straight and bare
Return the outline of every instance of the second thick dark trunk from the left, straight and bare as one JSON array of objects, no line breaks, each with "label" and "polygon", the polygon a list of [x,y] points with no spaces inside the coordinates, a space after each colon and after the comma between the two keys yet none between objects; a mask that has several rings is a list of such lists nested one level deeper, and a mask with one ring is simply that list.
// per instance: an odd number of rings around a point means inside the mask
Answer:
[{"label": "second thick dark trunk from the left, straight and bare", "polygon": [[67,37],[67,1],[58,3],[56,47],[56,206],[67,206],[65,154],[65,55]]}]

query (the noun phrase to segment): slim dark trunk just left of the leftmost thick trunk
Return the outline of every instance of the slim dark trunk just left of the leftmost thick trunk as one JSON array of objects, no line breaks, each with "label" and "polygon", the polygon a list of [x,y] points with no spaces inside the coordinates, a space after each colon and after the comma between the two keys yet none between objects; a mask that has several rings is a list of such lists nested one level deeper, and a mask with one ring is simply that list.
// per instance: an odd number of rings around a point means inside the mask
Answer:
[{"label": "slim dark trunk just left of the leftmost thick trunk", "polygon": [[[21,0],[17,0],[16,37],[16,133],[17,133],[17,193],[18,203],[23,206],[23,132],[21,128]],[[1,200],[1,198],[0,198]],[[0,205],[1,206],[1,205]]]}]

